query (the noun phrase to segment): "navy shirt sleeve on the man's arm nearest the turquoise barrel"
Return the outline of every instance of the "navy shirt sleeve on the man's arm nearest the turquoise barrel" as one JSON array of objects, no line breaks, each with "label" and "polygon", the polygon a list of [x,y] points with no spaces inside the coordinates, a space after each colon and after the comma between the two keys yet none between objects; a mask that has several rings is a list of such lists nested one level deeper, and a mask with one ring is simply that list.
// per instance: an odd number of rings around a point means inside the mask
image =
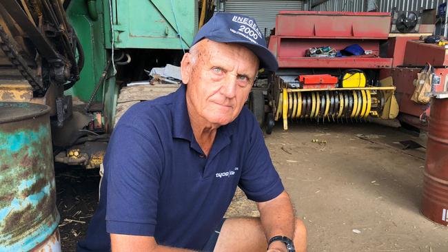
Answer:
[{"label": "navy shirt sleeve on the man's arm nearest the turquoise barrel", "polygon": [[105,156],[108,233],[154,236],[163,154],[160,138],[145,132],[119,124],[110,139]]}]

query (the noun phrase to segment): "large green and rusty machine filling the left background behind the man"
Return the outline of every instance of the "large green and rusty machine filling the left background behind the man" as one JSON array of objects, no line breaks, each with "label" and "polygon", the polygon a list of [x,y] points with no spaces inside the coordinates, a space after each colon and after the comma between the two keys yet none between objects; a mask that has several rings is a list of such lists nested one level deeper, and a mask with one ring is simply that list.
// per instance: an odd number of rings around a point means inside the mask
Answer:
[{"label": "large green and rusty machine filling the left background behind the man", "polygon": [[213,3],[2,0],[0,101],[49,105],[55,160],[99,167],[121,88],[179,65]]}]

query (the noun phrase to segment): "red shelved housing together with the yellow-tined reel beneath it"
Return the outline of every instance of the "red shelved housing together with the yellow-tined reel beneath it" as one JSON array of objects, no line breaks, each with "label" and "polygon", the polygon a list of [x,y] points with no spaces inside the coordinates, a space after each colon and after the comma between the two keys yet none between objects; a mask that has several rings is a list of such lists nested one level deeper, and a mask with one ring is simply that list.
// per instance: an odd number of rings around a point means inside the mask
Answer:
[{"label": "red shelved housing together with the yellow-tined reel beneath it", "polygon": [[[269,50],[280,69],[274,74],[272,101],[275,120],[288,119],[362,120],[368,116],[394,118],[398,107],[395,87],[378,81],[379,70],[390,68],[393,59],[380,56],[380,45],[389,37],[391,16],[383,12],[279,12]],[[329,46],[343,50],[358,44],[365,52],[358,56],[309,57],[309,48]],[[363,85],[341,85],[347,71],[363,74]],[[331,74],[340,79],[339,87],[301,88],[296,77],[305,74]],[[361,74],[360,74],[361,75]],[[269,125],[269,122],[268,122]]]}]

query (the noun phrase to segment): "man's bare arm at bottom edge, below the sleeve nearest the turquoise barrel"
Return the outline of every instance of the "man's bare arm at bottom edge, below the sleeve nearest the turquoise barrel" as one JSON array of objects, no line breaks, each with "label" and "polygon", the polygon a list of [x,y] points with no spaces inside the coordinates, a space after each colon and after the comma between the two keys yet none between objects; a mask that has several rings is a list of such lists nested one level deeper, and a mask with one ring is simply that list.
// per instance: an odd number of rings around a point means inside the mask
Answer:
[{"label": "man's bare arm at bottom edge, below the sleeve nearest the turquoise barrel", "polygon": [[152,236],[110,234],[112,252],[193,252],[187,249],[176,249],[160,246]]}]

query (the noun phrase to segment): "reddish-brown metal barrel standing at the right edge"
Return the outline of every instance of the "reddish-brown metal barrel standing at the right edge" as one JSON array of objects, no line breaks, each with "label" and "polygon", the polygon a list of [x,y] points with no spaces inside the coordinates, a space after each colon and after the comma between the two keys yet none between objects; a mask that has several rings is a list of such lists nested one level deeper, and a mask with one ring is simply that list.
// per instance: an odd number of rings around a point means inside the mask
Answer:
[{"label": "reddish-brown metal barrel standing at the right edge", "polygon": [[448,98],[432,98],[423,180],[422,213],[448,225]]}]

